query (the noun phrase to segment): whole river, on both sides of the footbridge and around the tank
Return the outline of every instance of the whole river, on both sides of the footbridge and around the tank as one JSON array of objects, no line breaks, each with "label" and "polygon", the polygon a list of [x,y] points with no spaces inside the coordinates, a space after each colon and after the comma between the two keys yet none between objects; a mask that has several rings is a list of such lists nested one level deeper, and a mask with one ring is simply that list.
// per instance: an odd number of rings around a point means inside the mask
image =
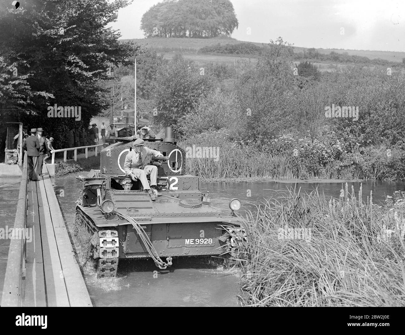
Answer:
[{"label": "whole river, on both sides of the footbridge and around the tank", "polygon": [[[72,232],[75,220],[75,201],[79,197],[81,182],[75,177],[53,178],[62,214]],[[360,183],[354,186],[356,194]],[[344,186],[344,185],[343,185]],[[260,183],[205,183],[201,191],[209,191],[211,204],[229,213],[228,203],[239,198],[243,210],[255,210],[256,206],[271,197],[279,199],[292,183],[265,181]],[[339,197],[341,183],[298,183],[296,188],[311,192],[318,187],[328,198]],[[64,192],[61,192],[63,190]],[[404,182],[363,182],[363,200],[373,191],[373,202],[384,202],[386,195],[405,190]],[[19,178],[0,178],[0,228],[13,225]],[[63,197],[60,195],[64,195]],[[250,195],[250,196],[249,196]],[[0,287],[4,281],[9,240],[0,240]],[[241,294],[238,270],[224,270],[222,266],[208,264],[207,260],[175,259],[173,266],[157,270],[151,260],[120,260],[115,278],[97,279],[94,269],[86,269],[84,278],[94,306],[239,306],[237,295]]]}]

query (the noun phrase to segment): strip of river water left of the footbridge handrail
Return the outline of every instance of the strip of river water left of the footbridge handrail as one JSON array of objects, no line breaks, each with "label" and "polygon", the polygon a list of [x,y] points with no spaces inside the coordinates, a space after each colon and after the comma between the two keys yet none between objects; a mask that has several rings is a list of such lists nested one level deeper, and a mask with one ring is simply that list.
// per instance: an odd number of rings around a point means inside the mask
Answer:
[{"label": "strip of river water left of the footbridge handrail", "polygon": [[[6,226],[9,228],[14,226],[20,182],[21,178],[19,177],[0,177],[0,229],[5,230]],[[10,240],[8,238],[0,238],[0,299],[4,275],[6,273],[9,246]]]}]

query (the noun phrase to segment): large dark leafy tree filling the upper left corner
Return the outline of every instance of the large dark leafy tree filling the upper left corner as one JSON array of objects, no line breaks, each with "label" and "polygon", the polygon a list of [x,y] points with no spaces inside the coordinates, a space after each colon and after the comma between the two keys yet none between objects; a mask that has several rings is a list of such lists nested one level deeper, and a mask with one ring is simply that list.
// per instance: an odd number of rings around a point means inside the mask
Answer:
[{"label": "large dark leafy tree filling the upper left corner", "polygon": [[[0,3],[0,108],[2,121],[45,127],[63,147],[70,127],[87,127],[109,105],[100,82],[107,68],[128,64],[139,46],[120,43],[106,25],[117,19],[127,0],[30,0],[16,10]],[[10,82],[10,67],[17,76]],[[4,81],[9,84],[4,85]],[[13,89],[10,91],[10,86]],[[80,106],[81,120],[49,118],[47,107]],[[14,110],[8,112],[8,110]]]}]

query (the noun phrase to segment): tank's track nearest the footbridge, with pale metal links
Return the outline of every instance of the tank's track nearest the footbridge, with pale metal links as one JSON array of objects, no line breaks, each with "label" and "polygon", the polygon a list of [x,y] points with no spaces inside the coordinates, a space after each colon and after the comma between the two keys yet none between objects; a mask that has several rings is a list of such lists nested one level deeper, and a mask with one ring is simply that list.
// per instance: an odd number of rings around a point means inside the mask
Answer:
[{"label": "tank's track nearest the footbridge, with pale metal links", "polygon": [[76,207],[76,222],[84,226],[91,237],[93,258],[98,259],[97,278],[115,277],[119,261],[119,238],[117,230],[100,230],[93,221]]}]

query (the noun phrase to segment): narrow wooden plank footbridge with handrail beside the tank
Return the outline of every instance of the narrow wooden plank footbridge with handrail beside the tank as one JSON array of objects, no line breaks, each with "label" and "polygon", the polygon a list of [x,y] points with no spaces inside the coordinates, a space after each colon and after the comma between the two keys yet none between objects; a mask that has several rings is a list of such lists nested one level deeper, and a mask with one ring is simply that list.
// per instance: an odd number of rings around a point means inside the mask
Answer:
[{"label": "narrow wooden plank footbridge with handrail beside the tank", "polygon": [[39,181],[29,181],[26,155],[1,306],[90,307],[46,165]]}]

